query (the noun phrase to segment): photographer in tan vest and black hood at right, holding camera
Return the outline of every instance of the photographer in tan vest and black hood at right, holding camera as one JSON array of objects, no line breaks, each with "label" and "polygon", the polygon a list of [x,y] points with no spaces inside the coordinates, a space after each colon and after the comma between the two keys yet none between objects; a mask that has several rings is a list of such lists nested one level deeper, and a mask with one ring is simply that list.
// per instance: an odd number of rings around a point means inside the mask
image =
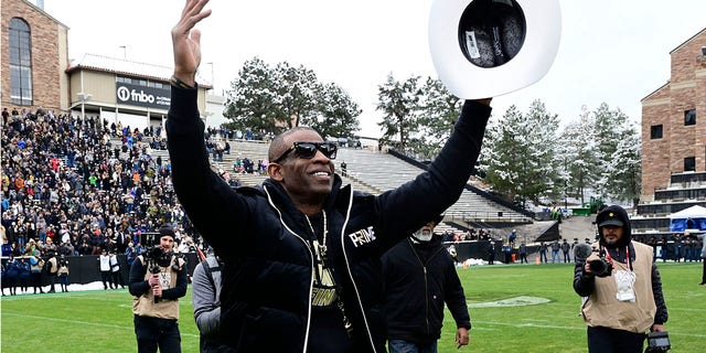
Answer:
[{"label": "photographer in tan vest and black hood at right, holding camera", "polygon": [[642,352],[646,332],[664,332],[667,310],[652,248],[631,239],[630,220],[618,205],[596,216],[599,242],[576,250],[574,290],[584,297],[589,353]]}]

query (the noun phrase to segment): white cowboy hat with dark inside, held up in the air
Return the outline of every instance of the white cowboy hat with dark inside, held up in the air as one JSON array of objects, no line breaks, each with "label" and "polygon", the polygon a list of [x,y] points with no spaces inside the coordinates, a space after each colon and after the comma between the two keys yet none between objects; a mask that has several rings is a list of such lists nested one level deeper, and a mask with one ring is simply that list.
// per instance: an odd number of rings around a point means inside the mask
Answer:
[{"label": "white cowboy hat with dark inside, held up in the air", "polygon": [[439,79],[466,99],[536,83],[549,71],[560,36],[558,0],[435,0],[429,15]]}]

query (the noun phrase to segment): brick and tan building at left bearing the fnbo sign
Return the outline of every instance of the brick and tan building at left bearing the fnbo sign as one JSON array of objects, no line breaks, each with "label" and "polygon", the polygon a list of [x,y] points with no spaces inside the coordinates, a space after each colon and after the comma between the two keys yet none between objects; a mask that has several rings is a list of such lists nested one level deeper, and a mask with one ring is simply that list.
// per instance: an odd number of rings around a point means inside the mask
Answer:
[{"label": "brick and tan building at left bearing the fnbo sign", "polygon": [[[1,21],[2,108],[41,106],[140,130],[164,122],[172,67],[95,54],[71,60],[68,26],[26,0],[2,0]],[[213,125],[206,117],[216,118],[223,101],[207,94],[210,83],[196,82],[199,110]]]}]

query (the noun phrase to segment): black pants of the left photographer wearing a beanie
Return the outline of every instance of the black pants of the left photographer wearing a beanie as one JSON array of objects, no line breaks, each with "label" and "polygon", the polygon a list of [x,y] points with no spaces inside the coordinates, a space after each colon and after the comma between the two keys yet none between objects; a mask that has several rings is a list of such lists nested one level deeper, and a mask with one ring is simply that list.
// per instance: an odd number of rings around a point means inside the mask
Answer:
[{"label": "black pants of the left photographer wearing a beanie", "polygon": [[135,315],[138,353],[181,353],[181,334],[176,320]]}]

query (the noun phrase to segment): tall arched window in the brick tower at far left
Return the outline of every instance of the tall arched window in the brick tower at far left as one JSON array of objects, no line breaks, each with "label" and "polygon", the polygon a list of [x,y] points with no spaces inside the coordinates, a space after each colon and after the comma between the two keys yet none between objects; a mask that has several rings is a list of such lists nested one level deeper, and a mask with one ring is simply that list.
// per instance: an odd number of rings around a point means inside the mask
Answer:
[{"label": "tall arched window in the brick tower at far left", "polygon": [[32,105],[32,43],[30,25],[10,20],[10,96],[13,104]]}]

